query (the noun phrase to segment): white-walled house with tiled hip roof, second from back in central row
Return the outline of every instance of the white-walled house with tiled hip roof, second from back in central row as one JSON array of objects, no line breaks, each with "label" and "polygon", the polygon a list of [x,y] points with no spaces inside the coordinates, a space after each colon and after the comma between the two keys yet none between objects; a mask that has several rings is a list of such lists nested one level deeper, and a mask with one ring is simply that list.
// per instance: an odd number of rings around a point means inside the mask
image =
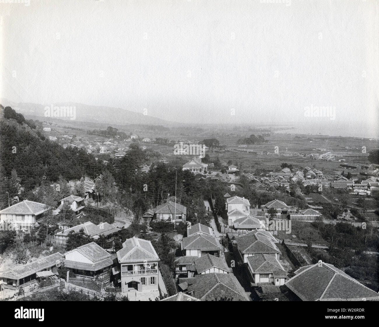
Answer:
[{"label": "white-walled house with tiled hip roof, second from back in central row", "polygon": [[207,253],[220,256],[220,244],[215,237],[205,234],[194,234],[192,236],[183,237],[181,243],[182,252],[186,256],[200,256]]}]

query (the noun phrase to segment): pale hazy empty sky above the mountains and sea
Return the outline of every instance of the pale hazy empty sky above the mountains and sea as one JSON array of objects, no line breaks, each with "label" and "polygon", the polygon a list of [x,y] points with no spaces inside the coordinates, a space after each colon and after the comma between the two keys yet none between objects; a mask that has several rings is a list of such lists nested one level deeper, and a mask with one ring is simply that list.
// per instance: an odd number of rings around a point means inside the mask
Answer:
[{"label": "pale hazy empty sky above the mountains and sea", "polygon": [[[1,97],[376,131],[378,1],[262,2],[0,3]],[[335,120],[304,117],[311,105]]]}]

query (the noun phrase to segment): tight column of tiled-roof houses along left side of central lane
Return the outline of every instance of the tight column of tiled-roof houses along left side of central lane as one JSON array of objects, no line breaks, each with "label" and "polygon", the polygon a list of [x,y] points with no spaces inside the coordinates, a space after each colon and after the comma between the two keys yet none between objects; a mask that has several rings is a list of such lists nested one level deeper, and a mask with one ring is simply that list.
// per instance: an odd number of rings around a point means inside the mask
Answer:
[{"label": "tight column of tiled-roof houses along left side of central lane", "polygon": [[180,296],[166,300],[248,301],[249,297],[228,267],[221,249],[210,227],[189,226],[180,245],[183,255],[175,258],[175,279]]}]

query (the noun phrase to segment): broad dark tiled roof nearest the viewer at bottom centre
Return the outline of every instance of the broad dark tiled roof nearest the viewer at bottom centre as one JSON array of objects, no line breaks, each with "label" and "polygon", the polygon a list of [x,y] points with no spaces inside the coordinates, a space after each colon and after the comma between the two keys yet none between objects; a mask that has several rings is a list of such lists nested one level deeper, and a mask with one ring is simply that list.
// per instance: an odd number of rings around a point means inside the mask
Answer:
[{"label": "broad dark tiled roof nearest the viewer at bottom centre", "polygon": [[[189,278],[187,279],[189,280]],[[193,291],[194,297],[205,301],[215,301],[221,298],[233,301],[249,300],[245,290],[233,274],[196,275],[193,285],[188,286],[188,291]]]}]

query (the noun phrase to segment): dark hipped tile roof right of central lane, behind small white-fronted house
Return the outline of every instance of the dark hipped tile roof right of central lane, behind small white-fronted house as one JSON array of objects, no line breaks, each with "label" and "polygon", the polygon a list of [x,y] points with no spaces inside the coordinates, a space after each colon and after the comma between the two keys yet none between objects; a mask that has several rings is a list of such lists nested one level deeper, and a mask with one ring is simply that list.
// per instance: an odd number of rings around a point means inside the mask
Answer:
[{"label": "dark hipped tile roof right of central lane, behind small white-fronted house", "polygon": [[237,247],[244,254],[274,254],[280,250],[274,242],[262,234],[244,234],[236,237]]}]

